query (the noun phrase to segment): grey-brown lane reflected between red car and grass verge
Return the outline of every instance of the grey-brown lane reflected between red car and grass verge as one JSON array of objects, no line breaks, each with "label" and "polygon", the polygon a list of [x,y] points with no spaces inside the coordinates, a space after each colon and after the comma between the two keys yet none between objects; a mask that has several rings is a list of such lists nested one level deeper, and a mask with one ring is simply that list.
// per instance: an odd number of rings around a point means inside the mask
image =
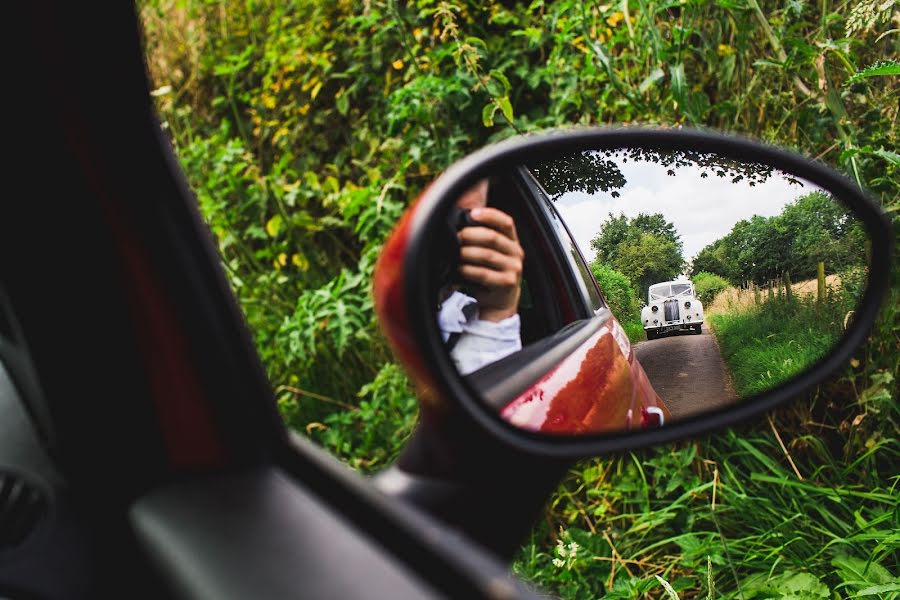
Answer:
[{"label": "grey-brown lane reflected between red car and grass verge", "polygon": [[701,335],[670,333],[638,342],[634,351],[673,419],[736,400],[716,338],[705,325]]}]

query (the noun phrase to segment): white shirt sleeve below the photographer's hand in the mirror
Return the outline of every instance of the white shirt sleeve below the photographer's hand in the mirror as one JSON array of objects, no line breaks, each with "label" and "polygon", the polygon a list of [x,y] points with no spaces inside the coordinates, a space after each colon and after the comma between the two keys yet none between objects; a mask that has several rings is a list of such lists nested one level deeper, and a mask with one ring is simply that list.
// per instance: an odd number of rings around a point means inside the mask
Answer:
[{"label": "white shirt sleeve below the photographer's hand in the mirror", "polygon": [[502,321],[478,318],[478,301],[462,292],[453,292],[438,311],[438,327],[446,342],[459,333],[450,358],[460,375],[468,375],[485,365],[522,349],[519,315]]}]

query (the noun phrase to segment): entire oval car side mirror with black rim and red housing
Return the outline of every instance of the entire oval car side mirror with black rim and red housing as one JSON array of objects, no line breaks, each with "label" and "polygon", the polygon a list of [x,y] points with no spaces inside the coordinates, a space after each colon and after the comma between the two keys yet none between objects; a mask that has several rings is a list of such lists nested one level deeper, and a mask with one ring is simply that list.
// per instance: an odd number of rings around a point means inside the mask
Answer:
[{"label": "entire oval car side mirror with black rim and red housing", "polygon": [[[472,207],[494,212],[450,219]],[[864,341],[890,245],[874,202],[795,154],[684,130],[556,132],[434,182],[385,246],[375,301],[429,390],[426,418],[577,458],[746,421],[821,382]]]}]

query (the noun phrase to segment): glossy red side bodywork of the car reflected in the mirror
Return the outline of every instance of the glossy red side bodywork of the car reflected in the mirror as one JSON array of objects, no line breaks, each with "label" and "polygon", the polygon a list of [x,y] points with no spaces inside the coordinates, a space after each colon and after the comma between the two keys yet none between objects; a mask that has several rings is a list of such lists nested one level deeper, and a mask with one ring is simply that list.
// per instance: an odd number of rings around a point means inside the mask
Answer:
[{"label": "glossy red side bodywork of the car reflected in the mirror", "polygon": [[506,405],[522,429],[566,435],[659,426],[670,414],[615,319]]}]

